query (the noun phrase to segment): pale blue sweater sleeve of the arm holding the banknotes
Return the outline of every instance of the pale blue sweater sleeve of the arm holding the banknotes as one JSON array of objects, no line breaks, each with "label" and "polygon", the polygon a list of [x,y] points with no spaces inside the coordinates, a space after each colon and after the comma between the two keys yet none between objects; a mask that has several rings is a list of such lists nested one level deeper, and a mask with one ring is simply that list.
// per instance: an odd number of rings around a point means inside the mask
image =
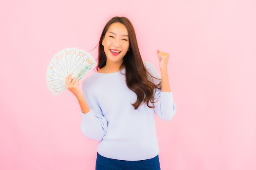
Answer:
[{"label": "pale blue sweater sleeve of the arm holding the banknotes", "polygon": [[83,82],[83,93],[90,111],[82,114],[81,131],[89,139],[101,141],[106,135],[107,120],[103,116],[101,108],[93,96],[92,89],[89,89],[85,81]]}]

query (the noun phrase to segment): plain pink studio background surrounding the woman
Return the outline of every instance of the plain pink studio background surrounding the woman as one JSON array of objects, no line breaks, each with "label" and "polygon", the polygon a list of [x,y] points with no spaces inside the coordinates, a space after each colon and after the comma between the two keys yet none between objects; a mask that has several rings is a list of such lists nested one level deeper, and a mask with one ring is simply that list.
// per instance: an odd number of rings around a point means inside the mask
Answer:
[{"label": "plain pink studio background surrounding the woman", "polygon": [[76,98],[54,96],[46,71],[62,49],[91,51],[115,15],[134,24],[144,60],[171,56],[162,170],[255,170],[255,0],[0,0],[0,170],[94,169]]}]

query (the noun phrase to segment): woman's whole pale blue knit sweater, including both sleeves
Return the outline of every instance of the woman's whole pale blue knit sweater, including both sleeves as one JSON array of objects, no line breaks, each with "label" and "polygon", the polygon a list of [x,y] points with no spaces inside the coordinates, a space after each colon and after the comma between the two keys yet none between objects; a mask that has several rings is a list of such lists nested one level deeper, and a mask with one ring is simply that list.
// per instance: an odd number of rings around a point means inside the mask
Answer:
[{"label": "woman's whole pale blue knit sweater, including both sleeves", "polygon": [[[151,62],[144,62],[154,77],[160,77]],[[153,80],[155,84],[158,79]],[[92,73],[83,81],[84,97],[90,107],[82,113],[81,130],[89,139],[99,141],[98,153],[112,159],[138,161],[158,155],[155,113],[170,120],[176,106],[172,93],[155,93],[155,108],[144,103],[135,110],[137,96],[127,86],[125,69],[116,73]],[[151,104],[151,103],[150,103]]]}]

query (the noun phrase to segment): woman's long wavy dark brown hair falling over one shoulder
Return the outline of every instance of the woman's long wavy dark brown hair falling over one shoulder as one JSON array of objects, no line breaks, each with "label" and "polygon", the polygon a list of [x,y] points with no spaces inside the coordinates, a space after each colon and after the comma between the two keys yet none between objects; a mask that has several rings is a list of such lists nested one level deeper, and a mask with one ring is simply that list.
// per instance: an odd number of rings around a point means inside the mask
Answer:
[{"label": "woman's long wavy dark brown hair falling over one shoulder", "polygon": [[[119,22],[126,26],[129,36],[129,51],[127,51],[124,56],[124,62],[121,65],[120,69],[125,67],[126,69],[126,84],[130,90],[132,90],[137,95],[137,100],[132,104],[134,108],[137,110],[142,102],[146,102],[149,108],[154,108],[154,94],[157,86],[159,84],[154,84],[149,80],[149,77],[153,77],[146,70],[144,63],[142,61],[141,55],[139,53],[139,47],[137,43],[137,38],[135,34],[134,27],[128,18],[126,17],[114,17],[110,19],[105,25],[101,38],[99,40],[99,55],[98,55],[98,65],[97,70],[104,67],[106,65],[106,54],[104,52],[104,47],[101,44],[103,38],[108,31],[108,28],[111,24]],[[155,77],[153,77],[155,78]],[[149,102],[153,104],[153,106],[149,105]]]}]

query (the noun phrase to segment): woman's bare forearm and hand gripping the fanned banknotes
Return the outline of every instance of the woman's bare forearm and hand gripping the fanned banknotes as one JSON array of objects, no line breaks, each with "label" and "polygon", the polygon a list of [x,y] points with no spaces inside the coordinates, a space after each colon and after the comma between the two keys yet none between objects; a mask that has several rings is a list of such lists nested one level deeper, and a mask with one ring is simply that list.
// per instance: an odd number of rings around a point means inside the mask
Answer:
[{"label": "woman's bare forearm and hand gripping the fanned banknotes", "polygon": [[72,73],[67,75],[67,77],[65,78],[66,88],[76,96],[82,113],[84,114],[88,113],[90,111],[90,108],[87,102],[85,101],[85,98],[83,96],[83,91],[78,86],[79,81],[76,77],[71,77],[71,76],[72,76]]}]

